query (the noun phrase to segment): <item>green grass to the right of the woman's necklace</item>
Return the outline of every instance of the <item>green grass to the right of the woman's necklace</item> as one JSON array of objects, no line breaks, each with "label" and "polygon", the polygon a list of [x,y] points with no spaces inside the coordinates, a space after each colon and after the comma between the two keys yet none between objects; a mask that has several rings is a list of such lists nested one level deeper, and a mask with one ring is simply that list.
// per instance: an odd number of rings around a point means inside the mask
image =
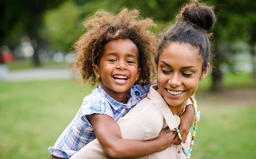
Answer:
[{"label": "green grass to the right of the woman's necklace", "polygon": [[200,107],[192,159],[255,159],[255,105]]}]

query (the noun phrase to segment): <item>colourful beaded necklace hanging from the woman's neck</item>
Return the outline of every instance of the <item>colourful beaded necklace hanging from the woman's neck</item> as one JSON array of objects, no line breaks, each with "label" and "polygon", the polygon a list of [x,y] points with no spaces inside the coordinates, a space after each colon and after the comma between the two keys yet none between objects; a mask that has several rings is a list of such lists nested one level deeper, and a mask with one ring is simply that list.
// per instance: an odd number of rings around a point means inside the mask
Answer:
[{"label": "colourful beaded necklace hanging from the woman's neck", "polygon": [[178,133],[178,137],[180,139],[180,144],[181,144],[181,148],[182,148],[182,151],[183,153],[187,156],[187,159],[189,158],[189,154],[191,154],[191,151],[192,151],[192,148],[193,148],[193,145],[194,145],[194,140],[195,140],[195,132],[197,130],[197,107],[195,106],[195,101],[192,97],[190,97],[191,101],[192,101],[192,104],[193,104],[193,108],[195,110],[195,126],[194,126],[194,132],[193,132],[193,135],[192,135],[192,140],[191,140],[191,144],[190,144],[190,148],[188,150],[188,152],[185,150],[184,148],[184,143],[182,141],[182,137],[180,135],[180,130],[178,129],[178,127],[176,127],[176,132]]}]

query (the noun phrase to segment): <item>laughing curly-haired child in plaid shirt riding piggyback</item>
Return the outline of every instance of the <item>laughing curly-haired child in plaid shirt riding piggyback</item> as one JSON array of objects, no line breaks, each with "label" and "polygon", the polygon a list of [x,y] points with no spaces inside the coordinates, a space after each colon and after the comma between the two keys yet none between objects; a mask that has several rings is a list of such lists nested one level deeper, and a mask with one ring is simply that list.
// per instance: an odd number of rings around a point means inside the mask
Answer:
[{"label": "laughing curly-haired child in plaid shirt riding piggyback", "polygon": [[[49,148],[50,158],[69,158],[96,137],[111,157],[141,157],[166,149],[176,135],[169,129],[152,141],[124,140],[116,123],[148,94],[156,50],[156,37],[148,30],[155,26],[152,19],[123,9],[115,16],[98,11],[84,24],[87,32],[75,44],[76,68],[84,81],[100,85]],[[186,112],[190,117],[182,120],[192,125],[194,112]],[[191,125],[183,125],[185,138]]]}]

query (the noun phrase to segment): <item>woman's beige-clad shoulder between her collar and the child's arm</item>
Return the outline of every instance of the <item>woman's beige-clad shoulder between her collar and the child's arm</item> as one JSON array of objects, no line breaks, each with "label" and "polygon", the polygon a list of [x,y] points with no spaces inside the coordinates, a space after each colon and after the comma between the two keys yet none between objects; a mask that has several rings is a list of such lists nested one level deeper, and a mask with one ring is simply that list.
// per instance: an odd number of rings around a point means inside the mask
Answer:
[{"label": "woman's beige-clad shoulder between her collar and the child's arm", "polygon": [[[163,128],[163,114],[159,107],[148,98],[141,100],[130,112],[120,118],[119,124],[122,136],[127,137],[132,134],[133,140],[152,140],[156,138]],[[133,131],[133,133],[128,133]],[[128,132],[126,132],[126,131]]]}]

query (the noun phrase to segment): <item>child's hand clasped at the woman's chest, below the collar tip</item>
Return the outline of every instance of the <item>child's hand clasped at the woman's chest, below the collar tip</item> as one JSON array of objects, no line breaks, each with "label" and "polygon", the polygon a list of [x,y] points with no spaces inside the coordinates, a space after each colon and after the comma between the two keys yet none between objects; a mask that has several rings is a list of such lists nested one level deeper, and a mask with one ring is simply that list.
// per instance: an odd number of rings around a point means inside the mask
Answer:
[{"label": "child's hand clasped at the woman's chest, below the collar tip", "polygon": [[175,129],[172,131],[169,129],[169,127],[162,129],[158,135],[158,137],[155,140],[159,140],[159,142],[162,144],[159,146],[159,151],[163,151],[166,148],[168,148],[171,143],[174,141],[174,138],[176,137]]}]

